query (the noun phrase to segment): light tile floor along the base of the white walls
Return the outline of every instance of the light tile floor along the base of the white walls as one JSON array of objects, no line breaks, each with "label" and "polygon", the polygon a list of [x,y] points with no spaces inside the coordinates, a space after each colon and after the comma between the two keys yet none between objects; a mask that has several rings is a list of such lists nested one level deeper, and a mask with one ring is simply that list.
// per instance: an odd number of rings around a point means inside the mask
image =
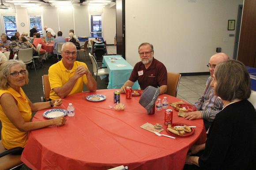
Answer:
[{"label": "light tile floor along the base of the white walls", "polygon": [[[107,46],[108,54],[117,54],[116,46]],[[203,76],[181,76],[178,87],[177,98],[180,98],[190,104],[195,102],[202,96],[206,81],[209,75]]]}]

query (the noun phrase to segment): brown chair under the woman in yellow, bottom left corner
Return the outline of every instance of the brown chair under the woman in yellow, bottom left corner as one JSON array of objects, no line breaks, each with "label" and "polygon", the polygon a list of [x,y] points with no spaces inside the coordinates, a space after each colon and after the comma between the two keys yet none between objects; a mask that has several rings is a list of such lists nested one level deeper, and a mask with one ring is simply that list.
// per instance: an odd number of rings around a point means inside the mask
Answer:
[{"label": "brown chair under the woman in yellow, bottom left corner", "polygon": [[[6,151],[2,141],[0,140],[0,153]],[[0,157],[0,169],[1,170],[10,170],[11,168],[23,164],[20,160],[21,155],[12,155],[8,154],[6,156]]]}]

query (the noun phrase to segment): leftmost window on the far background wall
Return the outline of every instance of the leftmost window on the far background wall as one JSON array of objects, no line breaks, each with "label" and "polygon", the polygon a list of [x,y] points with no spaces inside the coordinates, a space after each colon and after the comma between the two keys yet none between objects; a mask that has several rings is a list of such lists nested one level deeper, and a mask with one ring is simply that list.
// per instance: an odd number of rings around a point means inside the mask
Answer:
[{"label": "leftmost window on the far background wall", "polygon": [[4,19],[4,29],[7,36],[11,37],[15,35],[15,32],[17,31],[16,26],[16,18],[15,16],[3,16]]}]

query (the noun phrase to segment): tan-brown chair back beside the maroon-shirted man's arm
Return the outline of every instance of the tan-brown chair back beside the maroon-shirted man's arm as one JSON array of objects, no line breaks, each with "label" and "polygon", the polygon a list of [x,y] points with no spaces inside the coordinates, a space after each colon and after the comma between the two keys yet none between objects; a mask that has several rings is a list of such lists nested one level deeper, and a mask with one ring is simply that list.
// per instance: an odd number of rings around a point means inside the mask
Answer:
[{"label": "tan-brown chair back beside the maroon-shirted man's arm", "polygon": [[180,80],[180,73],[167,72],[167,90],[165,94],[176,97]]}]

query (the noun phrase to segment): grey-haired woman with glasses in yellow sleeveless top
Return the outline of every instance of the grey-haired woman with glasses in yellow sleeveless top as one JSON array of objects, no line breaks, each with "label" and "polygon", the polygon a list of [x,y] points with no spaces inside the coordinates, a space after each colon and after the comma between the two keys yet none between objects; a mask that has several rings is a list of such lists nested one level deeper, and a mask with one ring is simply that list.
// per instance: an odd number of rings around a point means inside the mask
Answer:
[{"label": "grey-haired woman with glasses in yellow sleeveless top", "polygon": [[24,148],[28,141],[28,131],[63,126],[67,120],[60,116],[46,121],[30,122],[32,112],[60,106],[62,100],[32,103],[21,88],[28,81],[28,72],[23,61],[8,60],[0,65],[0,120],[3,126],[1,138],[6,149]]}]

